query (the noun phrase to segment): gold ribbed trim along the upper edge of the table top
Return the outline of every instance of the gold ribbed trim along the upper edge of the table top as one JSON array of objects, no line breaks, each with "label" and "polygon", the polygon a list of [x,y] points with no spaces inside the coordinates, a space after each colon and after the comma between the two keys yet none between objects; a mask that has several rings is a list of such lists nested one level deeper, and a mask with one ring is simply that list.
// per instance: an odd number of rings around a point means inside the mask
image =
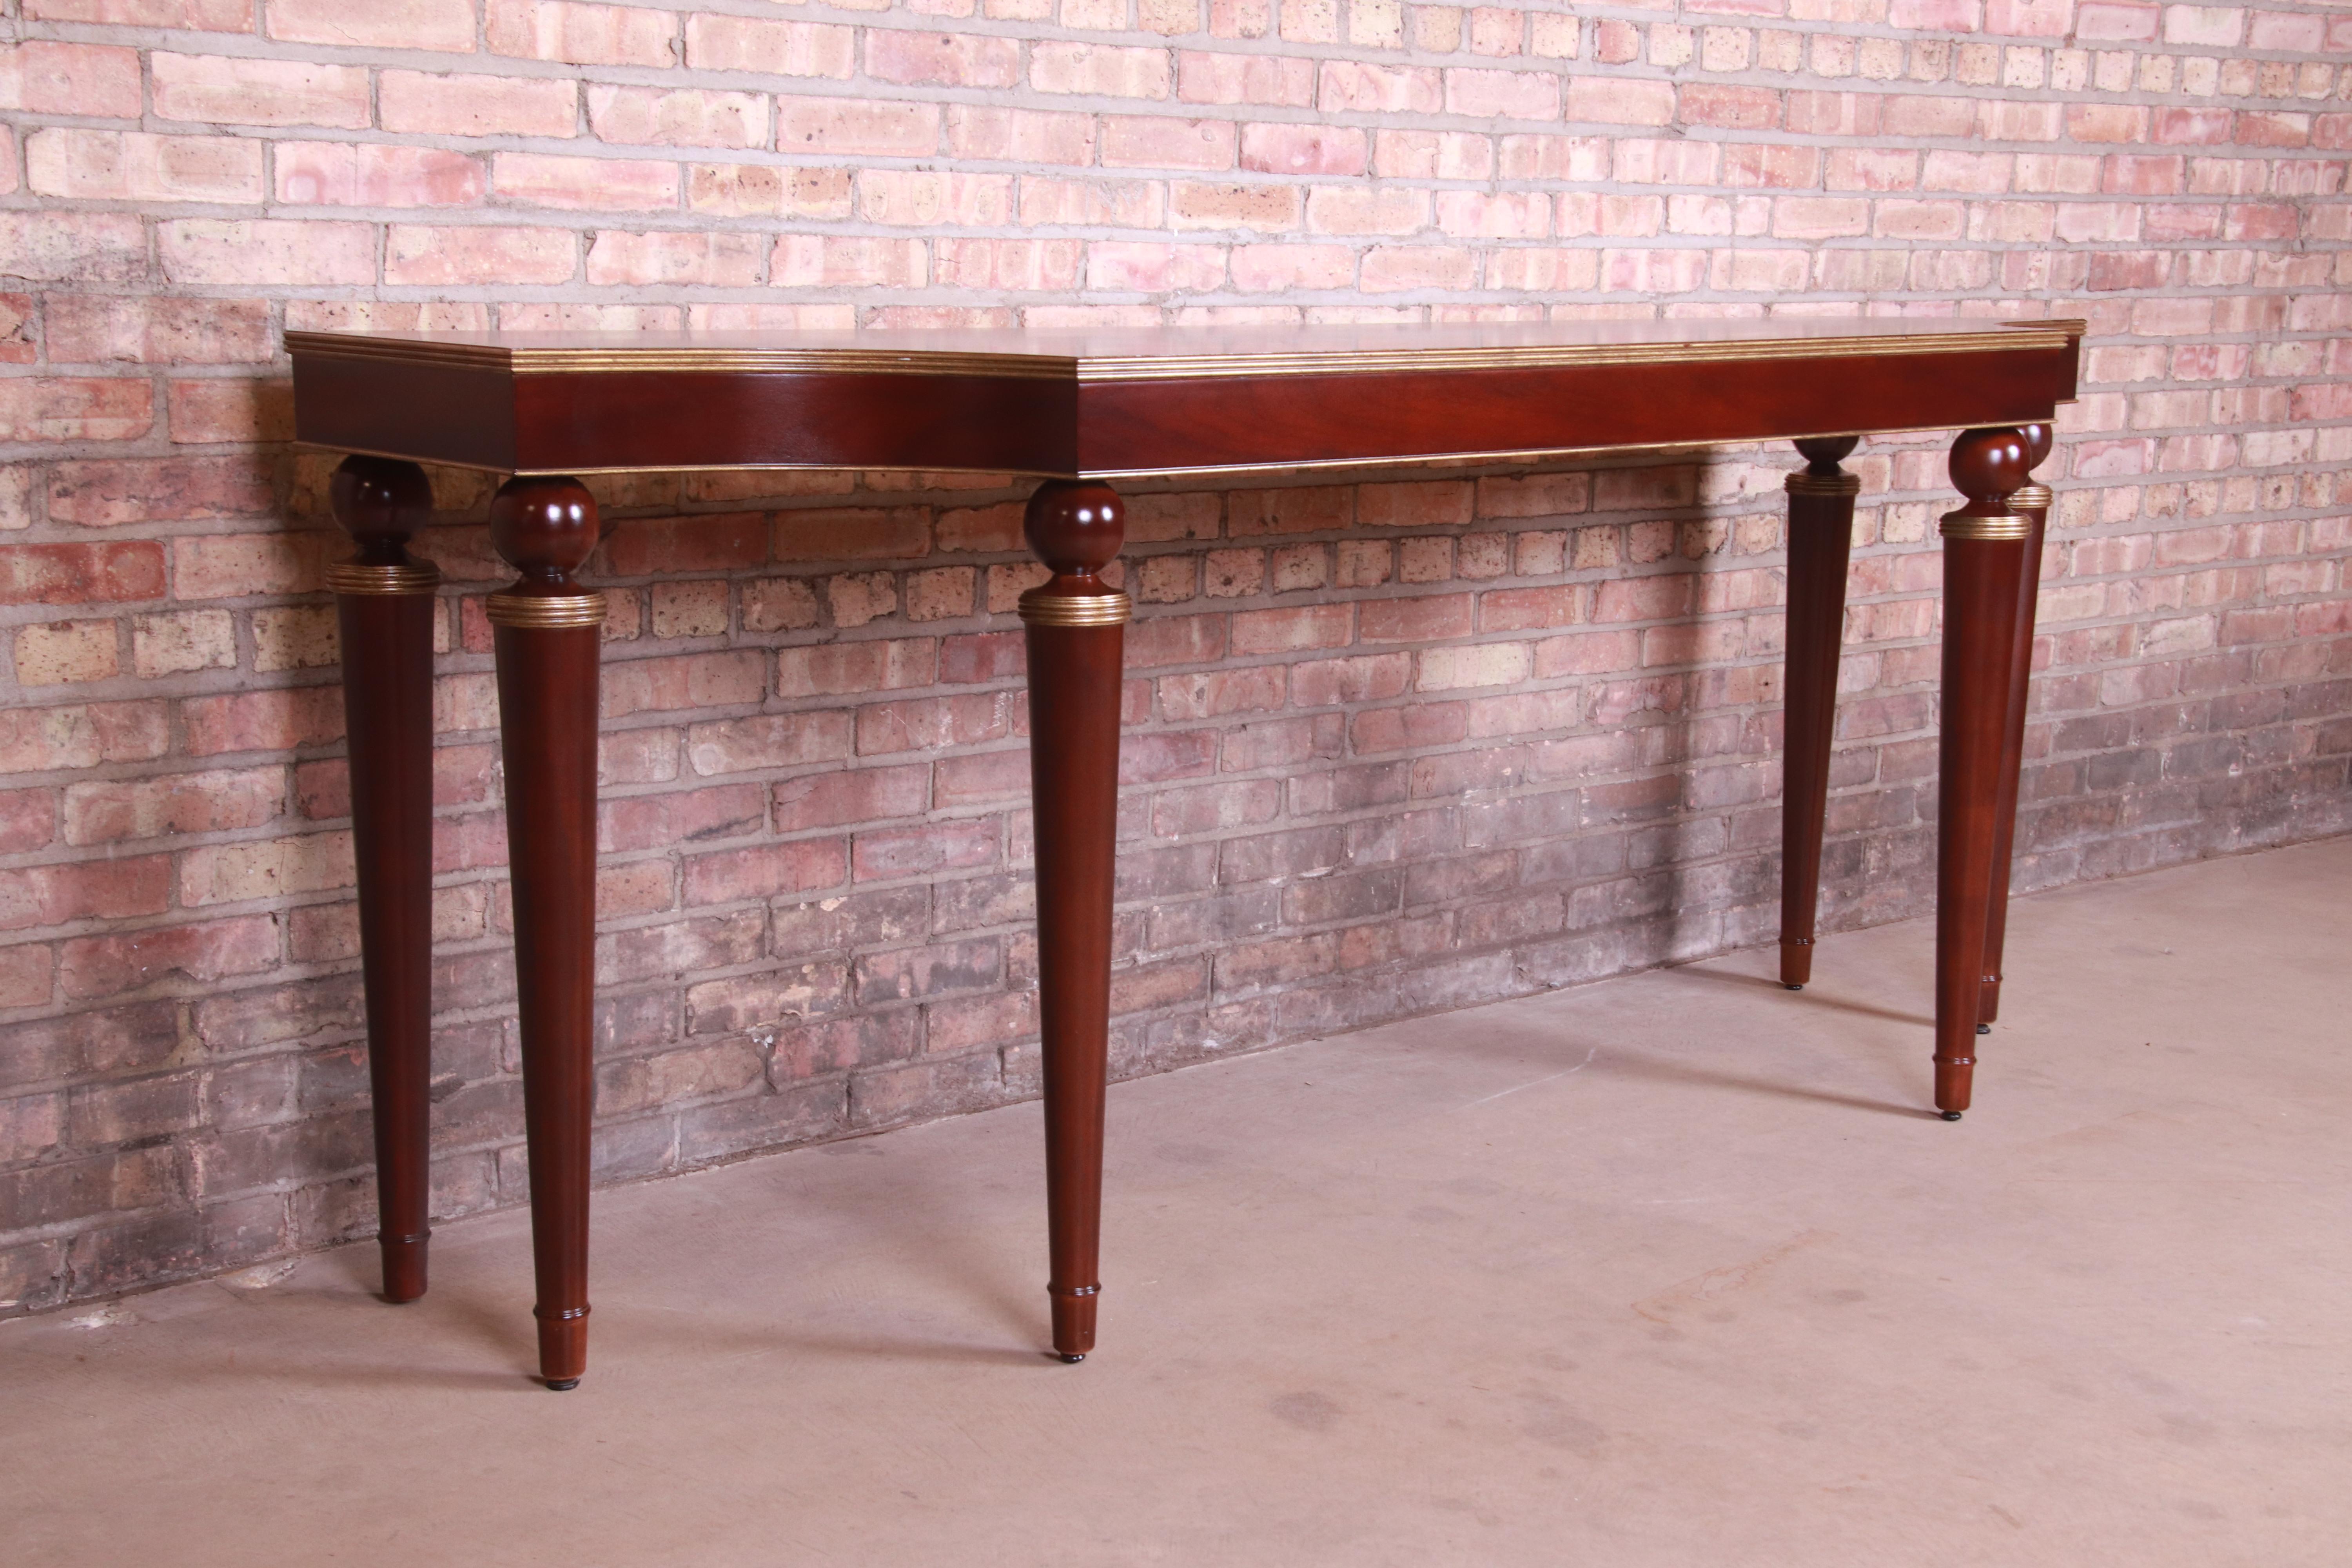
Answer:
[{"label": "gold ribbed trim along the upper edge of the table top", "polygon": [[1000,381],[1242,381],[1272,376],[1376,376],[1606,364],[1731,364],[1748,360],[1849,360],[1973,355],[2065,348],[2084,322],[2002,322],[1940,334],[1820,339],[1726,339],[1715,343],[1519,343],[1482,348],[1359,348],[1338,353],[1225,355],[988,355],[882,348],[513,348],[426,343],[334,331],[289,331],[289,353],[329,360],[386,360],[513,376],[621,371],[807,374],[807,376],[990,376]]}]

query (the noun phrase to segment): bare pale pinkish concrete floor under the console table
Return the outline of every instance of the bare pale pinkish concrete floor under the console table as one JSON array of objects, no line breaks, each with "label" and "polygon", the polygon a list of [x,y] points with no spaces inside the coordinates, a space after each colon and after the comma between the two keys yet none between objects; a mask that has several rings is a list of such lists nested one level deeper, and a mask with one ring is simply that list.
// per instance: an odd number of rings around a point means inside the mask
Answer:
[{"label": "bare pale pinkish concrete floor under the console table", "polygon": [[2352,839],[1112,1091],[1103,1345],[1014,1107],[0,1324],[16,1563],[2352,1561]]}]

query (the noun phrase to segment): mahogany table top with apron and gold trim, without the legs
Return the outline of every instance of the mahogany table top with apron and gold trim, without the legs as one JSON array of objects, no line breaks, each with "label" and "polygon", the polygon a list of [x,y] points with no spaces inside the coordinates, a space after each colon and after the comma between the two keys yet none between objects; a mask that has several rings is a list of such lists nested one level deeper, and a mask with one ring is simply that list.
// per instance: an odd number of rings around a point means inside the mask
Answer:
[{"label": "mahogany table top with apron and gold trim, without the legs", "polygon": [[2084,322],[289,331],[296,437],[503,473],[1254,473],[2051,418]]}]

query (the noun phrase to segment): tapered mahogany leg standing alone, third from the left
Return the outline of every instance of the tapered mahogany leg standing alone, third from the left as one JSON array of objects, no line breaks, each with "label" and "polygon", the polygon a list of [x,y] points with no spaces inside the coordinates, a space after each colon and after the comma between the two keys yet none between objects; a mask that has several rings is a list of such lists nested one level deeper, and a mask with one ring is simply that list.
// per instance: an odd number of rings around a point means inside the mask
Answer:
[{"label": "tapered mahogany leg standing alone, third from the left", "polygon": [[1021,595],[1037,806],[1037,1013],[1054,1349],[1094,1349],[1103,1288],[1103,1077],[1110,1046],[1110,879],[1120,811],[1120,654],[1134,604],[1103,583],[1127,531],[1108,484],[1049,482],[1025,534],[1054,569]]}]

